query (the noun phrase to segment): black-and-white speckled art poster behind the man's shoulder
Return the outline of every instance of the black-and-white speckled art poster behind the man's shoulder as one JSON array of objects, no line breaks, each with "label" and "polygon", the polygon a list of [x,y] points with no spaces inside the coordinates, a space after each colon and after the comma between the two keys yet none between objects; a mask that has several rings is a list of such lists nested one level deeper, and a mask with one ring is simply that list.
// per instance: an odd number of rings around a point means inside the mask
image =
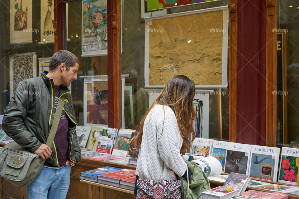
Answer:
[{"label": "black-and-white speckled art poster behind the man's shoulder", "polygon": [[10,97],[12,98],[20,81],[36,77],[36,53],[9,56]]}]

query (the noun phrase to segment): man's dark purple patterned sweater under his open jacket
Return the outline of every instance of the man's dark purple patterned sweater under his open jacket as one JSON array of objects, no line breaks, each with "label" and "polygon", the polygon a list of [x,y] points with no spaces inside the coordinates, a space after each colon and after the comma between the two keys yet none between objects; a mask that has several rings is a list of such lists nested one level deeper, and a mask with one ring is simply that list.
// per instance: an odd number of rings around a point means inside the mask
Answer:
[{"label": "man's dark purple patterned sweater under his open jacket", "polygon": [[[59,102],[59,94],[60,94],[60,86],[55,86],[55,102],[52,117],[54,118],[54,114],[56,113],[57,105]],[[69,146],[68,142],[68,127],[69,120],[64,110],[62,109],[60,121],[57,127],[57,131],[54,138],[54,144],[56,147],[59,167],[65,166],[65,162],[68,160],[67,150]],[[55,151],[53,151],[55,153]],[[45,166],[53,167],[50,163],[45,162]]]}]

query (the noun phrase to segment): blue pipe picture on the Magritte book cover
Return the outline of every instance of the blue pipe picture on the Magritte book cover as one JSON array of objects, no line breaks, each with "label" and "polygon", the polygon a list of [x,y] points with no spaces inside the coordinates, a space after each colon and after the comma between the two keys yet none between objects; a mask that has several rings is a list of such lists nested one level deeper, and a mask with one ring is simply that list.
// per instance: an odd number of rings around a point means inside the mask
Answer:
[{"label": "blue pipe picture on the Magritte book cover", "polygon": [[252,153],[250,161],[250,177],[273,181],[275,159],[272,155]]}]

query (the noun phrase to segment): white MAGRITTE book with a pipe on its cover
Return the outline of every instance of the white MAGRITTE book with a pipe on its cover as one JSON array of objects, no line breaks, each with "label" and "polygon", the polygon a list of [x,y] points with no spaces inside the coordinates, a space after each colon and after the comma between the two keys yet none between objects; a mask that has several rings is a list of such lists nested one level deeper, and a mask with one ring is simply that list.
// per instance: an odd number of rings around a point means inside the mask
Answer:
[{"label": "white MAGRITTE book with a pipe on its cover", "polygon": [[249,176],[277,181],[280,149],[269,146],[251,146]]}]

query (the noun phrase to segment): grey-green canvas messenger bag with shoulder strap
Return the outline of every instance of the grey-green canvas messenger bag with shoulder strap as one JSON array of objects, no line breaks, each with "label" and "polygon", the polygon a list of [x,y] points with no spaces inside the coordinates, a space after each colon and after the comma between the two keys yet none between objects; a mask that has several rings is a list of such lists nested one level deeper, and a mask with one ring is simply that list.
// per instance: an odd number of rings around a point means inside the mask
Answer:
[{"label": "grey-green canvas messenger bag with shoulder strap", "polygon": [[[46,145],[51,148],[60,121],[64,95],[59,98],[56,113]],[[17,187],[28,187],[43,168],[45,160],[23,149],[15,141],[7,143],[0,151],[0,177]]]}]

